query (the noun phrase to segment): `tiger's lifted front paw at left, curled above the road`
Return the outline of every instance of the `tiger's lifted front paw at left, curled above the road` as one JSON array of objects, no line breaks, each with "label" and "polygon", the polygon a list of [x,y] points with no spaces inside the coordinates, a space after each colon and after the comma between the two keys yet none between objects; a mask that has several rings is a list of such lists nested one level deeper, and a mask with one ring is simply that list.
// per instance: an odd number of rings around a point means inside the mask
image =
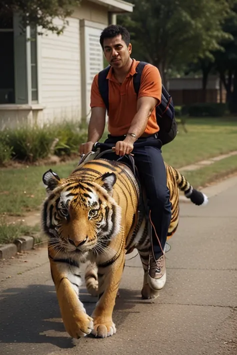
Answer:
[{"label": "tiger's lifted front paw at left, curled above the road", "polygon": [[93,329],[93,319],[86,313],[73,316],[70,322],[64,323],[65,330],[72,338],[78,339],[89,335]]}]

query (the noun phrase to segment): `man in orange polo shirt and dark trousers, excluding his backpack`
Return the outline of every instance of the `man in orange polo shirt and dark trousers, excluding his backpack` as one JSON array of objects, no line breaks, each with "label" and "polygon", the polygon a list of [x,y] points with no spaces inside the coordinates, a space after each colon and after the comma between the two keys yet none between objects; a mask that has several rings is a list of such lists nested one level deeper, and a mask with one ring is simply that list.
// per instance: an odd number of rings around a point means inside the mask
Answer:
[{"label": "man in orange polo shirt and dark trousers, excluding his backpack", "polygon": [[[130,57],[129,32],[122,26],[109,25],[100,35],[104,56],[111,65],[107,79],[109,91],[107,141],[114,142],[117,156],[132,152],[140,181],[145,188],[152,224],[152,252],[149,258],[148,282],[154,290],[163,288],[166,281],[163,249],[171,218],[166,171],[157,139],[155,106],[161,99],[161,78],[158,69],[145,65],[140,89],[136,96],[132,77],[138,62]],[[91,117],[87,142],[79,147],[80,154],[91,151],[105,127],[105,104],[98,89],[98,74],[91,86]],[[157,147],[145,145],[157,140]],[[137,144],[143,142],[143,146]]]}]

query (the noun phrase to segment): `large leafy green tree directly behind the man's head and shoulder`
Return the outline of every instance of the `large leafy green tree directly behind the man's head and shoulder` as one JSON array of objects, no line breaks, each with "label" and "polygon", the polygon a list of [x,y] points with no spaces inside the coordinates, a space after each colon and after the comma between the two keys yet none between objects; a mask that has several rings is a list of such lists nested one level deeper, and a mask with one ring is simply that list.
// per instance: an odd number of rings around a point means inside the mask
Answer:
[{"label": "large leafy green tree directly behind the man's head and shoulder", "polygon": [[213,58],[228,38],[221,24],[229,12],[227,0],[133,0],[133,13],[118,21],[131,32],[133,52],[157,66],[165,82],[167,68],[198,58]]}]

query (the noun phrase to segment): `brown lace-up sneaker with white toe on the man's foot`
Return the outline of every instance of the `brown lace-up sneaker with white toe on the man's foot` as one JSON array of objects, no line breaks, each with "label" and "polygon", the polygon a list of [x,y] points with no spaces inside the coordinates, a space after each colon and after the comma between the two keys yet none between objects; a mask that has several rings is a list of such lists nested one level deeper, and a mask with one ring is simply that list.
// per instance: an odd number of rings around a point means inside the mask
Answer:
[{"label": "brown lace-up sneaker with white toe on the man's foot", "polygon": [[165,257],[162,255],[158,260],[150,253],[149,273],[147,276],[149,287],[153,290],[161,290],[166,281]]}]

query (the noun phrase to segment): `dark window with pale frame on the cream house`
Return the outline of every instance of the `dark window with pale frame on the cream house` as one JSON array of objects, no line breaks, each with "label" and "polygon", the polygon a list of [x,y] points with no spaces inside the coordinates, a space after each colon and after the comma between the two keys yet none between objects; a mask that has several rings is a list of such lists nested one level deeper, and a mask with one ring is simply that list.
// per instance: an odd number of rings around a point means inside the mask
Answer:
[{"label": "dark window with pale frame on the cream house", "polygon": [[17,14],[7,19],[0,16],[0,104],[37,100],[36,27],[22,31]]}]

